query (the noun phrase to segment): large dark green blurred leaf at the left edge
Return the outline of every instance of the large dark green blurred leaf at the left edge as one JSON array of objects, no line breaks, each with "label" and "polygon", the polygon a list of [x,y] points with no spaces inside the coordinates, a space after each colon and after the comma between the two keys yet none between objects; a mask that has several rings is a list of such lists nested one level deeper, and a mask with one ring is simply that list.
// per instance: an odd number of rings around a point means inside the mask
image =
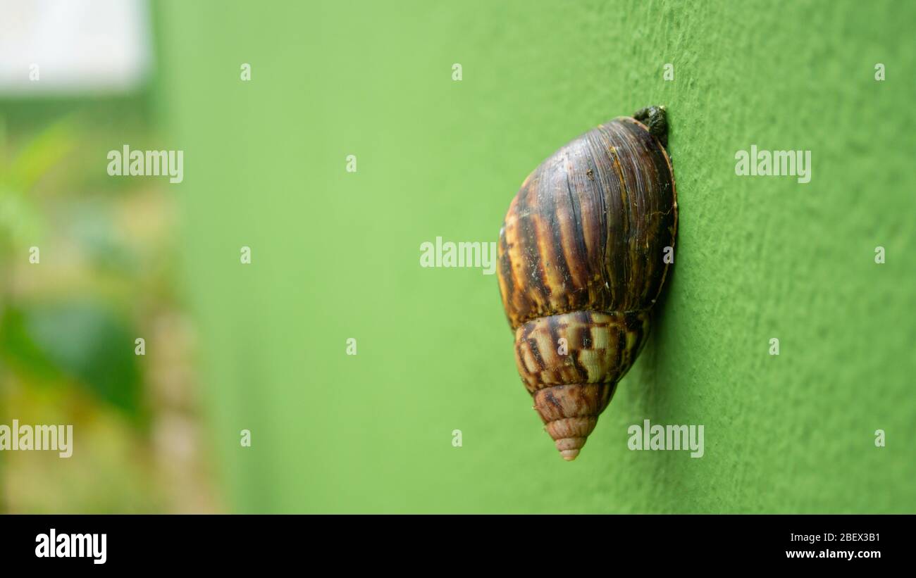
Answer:
[{"label": "large dark green blurred leaf at the left edge", "polygon": [[91,301],[13,305],[0,327],[0,351],[40,377],[78,380],[98,399],[136,419],[141,382],[130,328]]}]

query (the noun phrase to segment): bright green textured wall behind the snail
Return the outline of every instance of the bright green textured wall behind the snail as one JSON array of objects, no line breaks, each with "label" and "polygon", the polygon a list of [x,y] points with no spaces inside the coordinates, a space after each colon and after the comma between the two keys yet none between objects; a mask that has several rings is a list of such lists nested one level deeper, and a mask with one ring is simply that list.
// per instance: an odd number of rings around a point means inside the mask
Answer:
[{"label": "bright green textured wall behind the snail", "polygon": [[[910,3],[160,13],[232,508],[916,511]],[[495,241],[545,156],[649,103],[670,111],[675,268],[649,345],[564,463],[519,383],[496,277],[420,268],[420,243]],[[736,177],[751,144],[811,150],[811,182]],[[627,450],[643,419],[702,423],[705,455]]]}]

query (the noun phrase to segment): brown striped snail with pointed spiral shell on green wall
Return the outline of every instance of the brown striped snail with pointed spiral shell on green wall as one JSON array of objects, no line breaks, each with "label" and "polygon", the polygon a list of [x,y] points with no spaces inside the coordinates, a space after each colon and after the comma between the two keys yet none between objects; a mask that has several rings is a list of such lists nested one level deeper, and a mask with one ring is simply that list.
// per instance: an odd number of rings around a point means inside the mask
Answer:
[{"label": "brown striped snail with pointed spiral shell on green wall", "polygon": [[583,134],[525,179],[499,231],[518,374],[567,461],[645,345],[673,261],[667,136],[663,106]]}]

